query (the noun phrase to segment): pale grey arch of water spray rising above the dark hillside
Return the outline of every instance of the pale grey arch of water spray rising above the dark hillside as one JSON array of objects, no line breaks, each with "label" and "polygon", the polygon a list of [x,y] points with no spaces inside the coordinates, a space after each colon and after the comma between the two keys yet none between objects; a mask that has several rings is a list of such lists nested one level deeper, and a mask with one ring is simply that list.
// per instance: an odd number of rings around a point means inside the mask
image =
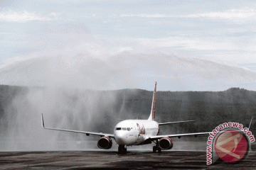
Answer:
[{"label": "pale grey arch of water spray rising above the dark hillside", "polygon": [[71,89],[146,89],[154,81],[161,91],[255,90],[255,72],[225,63],[162,52],[120,52],[97,58],[90,53],[36,57],[0,70],[0,83]]}]

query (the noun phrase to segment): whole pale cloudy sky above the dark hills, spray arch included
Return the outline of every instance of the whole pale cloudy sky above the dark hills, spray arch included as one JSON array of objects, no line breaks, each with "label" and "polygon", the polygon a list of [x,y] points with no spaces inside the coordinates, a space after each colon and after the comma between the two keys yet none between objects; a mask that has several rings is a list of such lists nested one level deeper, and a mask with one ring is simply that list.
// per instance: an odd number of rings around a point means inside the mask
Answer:
[{"label": "whole pale cloudy sky above the dark hills, spray arch included", "polygon": [[0,84],[256,90],[255,21],[255,1],[0,0]]}]

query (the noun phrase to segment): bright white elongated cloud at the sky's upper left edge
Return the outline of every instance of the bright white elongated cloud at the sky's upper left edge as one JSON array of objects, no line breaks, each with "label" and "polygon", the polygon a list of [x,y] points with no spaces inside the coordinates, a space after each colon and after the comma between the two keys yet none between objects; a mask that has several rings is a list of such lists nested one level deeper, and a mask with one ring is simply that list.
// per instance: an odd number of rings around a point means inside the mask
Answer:
[{"label": "bright white elongated cloud at the sky's upper left edge", "polygon": [[58,19],[58,13],[50,13],[48,16],[41,16],[36,12],[28,11],[1,11],[0,22],[26,23],[29,21],[54,21]]}]

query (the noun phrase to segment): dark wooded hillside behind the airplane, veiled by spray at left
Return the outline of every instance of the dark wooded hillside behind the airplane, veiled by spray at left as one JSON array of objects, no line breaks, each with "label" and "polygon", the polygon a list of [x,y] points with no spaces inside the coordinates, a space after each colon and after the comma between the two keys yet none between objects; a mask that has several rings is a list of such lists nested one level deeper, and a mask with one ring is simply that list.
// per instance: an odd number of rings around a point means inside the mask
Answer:
[{"label": "dark wooded hillside behind the airplane, veiled by spray at left", "polygon": [[[117,119],[146,119],[152,91],[122,89],[90,91],[0,86],[0,128],[8,133],[21,121],[39,121],[44,113],[58,128],[112,132]],[[167,125],[162,133],[211,131],[220,123],[234,121],[247,126],[256,117],[256,92],[232,88],[227,91],[157,91],[156,120],[160,123],[196,120],[195,123]],[[31,120],[30,120],[31,119]],[[256,121],[252,132],[256,134]],[[39,124],[39,123],[38,123]],[[11,129],[11,130],[9,130]]]}]

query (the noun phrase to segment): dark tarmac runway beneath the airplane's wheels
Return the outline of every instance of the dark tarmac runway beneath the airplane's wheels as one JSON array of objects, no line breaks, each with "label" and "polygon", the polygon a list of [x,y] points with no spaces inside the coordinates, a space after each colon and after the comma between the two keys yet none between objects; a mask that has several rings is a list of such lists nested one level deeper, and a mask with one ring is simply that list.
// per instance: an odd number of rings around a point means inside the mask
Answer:
[{"label": "dark tarmac runway beneath the airplane's wheels", "polygon": [[131,150],[0,152],[0,169],[255,169],[256,152],[238,164],[207,166],[206,152]]}]

